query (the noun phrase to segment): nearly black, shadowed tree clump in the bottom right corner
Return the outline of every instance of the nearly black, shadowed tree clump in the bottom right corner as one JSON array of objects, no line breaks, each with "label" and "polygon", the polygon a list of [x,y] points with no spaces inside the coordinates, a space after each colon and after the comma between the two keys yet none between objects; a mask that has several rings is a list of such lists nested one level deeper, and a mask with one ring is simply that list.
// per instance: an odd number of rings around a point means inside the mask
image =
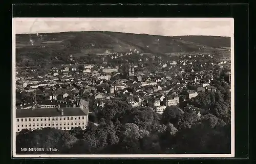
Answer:
[{"label": "nearly black, shadowed tree clump in the bottom right corner", "polygon": [[231,152],[230,134],[227,126],[212,129],[195,124],[176,134],[176,142],[172,148],[178,154],[228,154]]}]

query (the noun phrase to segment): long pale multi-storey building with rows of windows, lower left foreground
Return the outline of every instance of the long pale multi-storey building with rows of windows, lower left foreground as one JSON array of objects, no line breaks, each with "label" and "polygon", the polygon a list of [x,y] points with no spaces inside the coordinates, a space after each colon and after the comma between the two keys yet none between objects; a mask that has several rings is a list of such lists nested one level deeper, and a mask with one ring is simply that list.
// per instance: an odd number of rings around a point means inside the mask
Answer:
[{"label": "long pale multi-storey building with rows of windows, lower left foreground", "polygon": [[72,127],[86,129],[88,124],[89,102],[78,100],[73,107],[60,108],[52,106],[50,108],[29,108],[16,109],[15,131],[22,129],[36,130],[46,127],[61,130],[71,130]]}]

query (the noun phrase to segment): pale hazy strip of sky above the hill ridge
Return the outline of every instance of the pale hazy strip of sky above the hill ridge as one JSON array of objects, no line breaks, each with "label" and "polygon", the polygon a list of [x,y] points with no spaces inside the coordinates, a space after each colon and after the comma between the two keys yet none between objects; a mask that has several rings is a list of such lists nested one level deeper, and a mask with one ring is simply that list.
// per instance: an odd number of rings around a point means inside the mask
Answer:
[{"label": "pale hazy strip of sky above the hill ridge", "polygon": [[114,31],[163,36],[233,35],[232,18],[13,18],[15,34]]}]

